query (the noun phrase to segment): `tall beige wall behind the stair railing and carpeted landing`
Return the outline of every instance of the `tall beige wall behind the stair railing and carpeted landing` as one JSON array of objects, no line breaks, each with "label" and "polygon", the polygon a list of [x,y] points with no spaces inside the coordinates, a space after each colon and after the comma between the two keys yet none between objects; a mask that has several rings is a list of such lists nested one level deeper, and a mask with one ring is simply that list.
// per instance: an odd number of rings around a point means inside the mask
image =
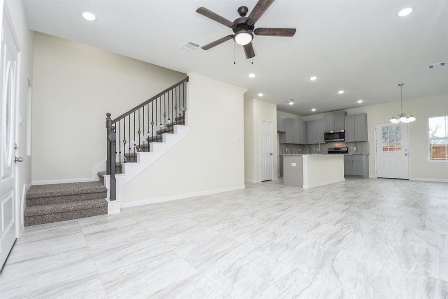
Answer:
[{"label": "tall beige wall behind the stair railing and carpeted landing", "polygon": [[88,180],[106,158],[106,112],[126,112],[186,74],[34,34],[32,180]]}]

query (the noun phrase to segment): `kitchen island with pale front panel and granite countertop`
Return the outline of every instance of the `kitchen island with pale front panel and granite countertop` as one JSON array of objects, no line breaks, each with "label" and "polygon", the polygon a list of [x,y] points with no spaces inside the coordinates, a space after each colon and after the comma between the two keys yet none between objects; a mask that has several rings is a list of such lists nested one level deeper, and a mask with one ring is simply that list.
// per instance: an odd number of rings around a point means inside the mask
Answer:
[{"label": "kitchen island with pale front panel and granite countertop", "polygon": [[312,188],[344,181],[343,154],[283,155],[283,184]]}]

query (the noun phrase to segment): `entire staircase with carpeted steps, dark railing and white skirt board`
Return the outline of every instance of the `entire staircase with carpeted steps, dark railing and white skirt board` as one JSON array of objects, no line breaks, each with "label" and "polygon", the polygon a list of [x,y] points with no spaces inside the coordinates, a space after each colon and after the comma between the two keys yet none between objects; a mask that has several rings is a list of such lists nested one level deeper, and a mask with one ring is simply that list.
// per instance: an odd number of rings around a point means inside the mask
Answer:
[{"label": "entire staircase with carpeted steps, dark railing and white skirt board", "polygon": [[24,225],[119,212],[121,188],[190,133],[185,126],[188,80],[113,120],[107,113],[106,171],[98,172],[99,181],[31,186]]}]

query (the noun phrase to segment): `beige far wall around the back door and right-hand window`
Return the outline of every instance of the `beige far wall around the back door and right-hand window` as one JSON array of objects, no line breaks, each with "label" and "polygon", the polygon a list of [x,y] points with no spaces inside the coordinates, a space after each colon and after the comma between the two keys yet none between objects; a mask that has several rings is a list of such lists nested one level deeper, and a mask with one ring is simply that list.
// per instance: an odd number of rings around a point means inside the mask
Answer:
[{"label": "beige far wall around the back door and right-hand window", "polygon": [[[448,115],[448,94],[403,101],[403,110],[412,112],[416,121],[409,124],[410,169],[409,176],[416,180],[448,181],[448,164],[428,162],[428,120],[430,116]],[[370,147],[369,175],[375,176],[375,123],[387,122],[393,113],[400,111],[400,102],[348,109],[348,114],[367,113]],[[303,117],[303,120],[323,118],[323,114]]]}]

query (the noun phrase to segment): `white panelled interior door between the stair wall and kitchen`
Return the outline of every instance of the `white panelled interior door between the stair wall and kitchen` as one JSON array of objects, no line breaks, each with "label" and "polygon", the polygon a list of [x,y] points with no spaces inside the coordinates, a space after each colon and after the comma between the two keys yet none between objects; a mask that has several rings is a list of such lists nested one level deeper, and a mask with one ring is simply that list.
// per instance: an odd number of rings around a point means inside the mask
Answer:
[{"label": "white panelled interior door between the stair wall and kitchen", "polygon": [[272,151],[272,123],[260,121],[260,179],[272,179],[272,164],[274,161]]}]

